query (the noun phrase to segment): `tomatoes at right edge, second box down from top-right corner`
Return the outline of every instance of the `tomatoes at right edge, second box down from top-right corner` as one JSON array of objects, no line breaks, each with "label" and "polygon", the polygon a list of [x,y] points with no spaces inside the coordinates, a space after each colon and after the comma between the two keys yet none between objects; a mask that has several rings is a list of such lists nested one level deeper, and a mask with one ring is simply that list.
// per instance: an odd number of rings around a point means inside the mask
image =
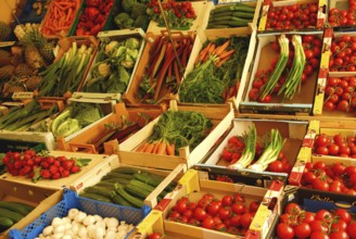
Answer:
[{"label": "tomatoes at right edge, second box down from top-right corner", "polygon": [[333,38],[330,50],[330,72],[356,72],[356,36]]}]

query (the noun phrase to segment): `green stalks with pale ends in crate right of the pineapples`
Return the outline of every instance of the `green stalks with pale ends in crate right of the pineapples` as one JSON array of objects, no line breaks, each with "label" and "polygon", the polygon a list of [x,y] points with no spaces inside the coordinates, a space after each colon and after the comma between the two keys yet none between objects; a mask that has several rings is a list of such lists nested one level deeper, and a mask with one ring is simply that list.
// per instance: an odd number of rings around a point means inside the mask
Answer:
[{"label": "green stalks with pale ends in crate right of the pineapples", "polygon": [[38,85],[39,97],[71,97],[77,90],[89,60],[93,46],[81,45],[76,41],[64,55],[49,65],[39,75],[42,76]]}]

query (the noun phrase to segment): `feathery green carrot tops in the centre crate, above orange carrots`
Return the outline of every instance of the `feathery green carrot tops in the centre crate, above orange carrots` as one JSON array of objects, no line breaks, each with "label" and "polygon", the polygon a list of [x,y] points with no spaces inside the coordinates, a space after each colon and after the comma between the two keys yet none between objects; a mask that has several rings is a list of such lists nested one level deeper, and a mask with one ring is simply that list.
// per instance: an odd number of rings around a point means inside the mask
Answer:
[{"label": "feathery green carrot tops in the centre crate, above orange carrots", "polygon": [[153,126],[150,141],[163,140],[175,144],[175,154],[182,147],[193,150],[209,133],[213,124],[200,112],[166,111]]}]

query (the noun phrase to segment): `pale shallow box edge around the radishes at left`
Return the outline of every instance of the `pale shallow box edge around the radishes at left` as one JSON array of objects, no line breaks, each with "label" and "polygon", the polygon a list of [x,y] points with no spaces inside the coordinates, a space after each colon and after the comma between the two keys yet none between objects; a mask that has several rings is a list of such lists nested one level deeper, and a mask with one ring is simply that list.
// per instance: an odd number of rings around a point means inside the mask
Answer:
[{"label": "pale shallow box edge around the radishes at left", "polygon": [[90,159],[90,163],[87,166],[80,168],[80,172],[76,174],[71,174],[69,177],[60,178],[55,180],[51,179],[40,179],[37,183],[33,183],[31,179],[23,176],[12,176],[9,173],[4,173],[0,176],[0,179],[9,183],[17,183],[24,185],[24,187],[38,187],[44,189],[63,189],[65,187],[78,187],[82,184],[84,178],[87,177],[91,172],[96,172],[97,168],[100,168],[102,165],[107,164],[111,161],[118,161],[117,155],[99,155],[99,154],[88,154],[88,153],[74,153],[74,152],[63,152],[63,151],[50,151],[50,155],[53,156],[66,156],[67,159]]}]

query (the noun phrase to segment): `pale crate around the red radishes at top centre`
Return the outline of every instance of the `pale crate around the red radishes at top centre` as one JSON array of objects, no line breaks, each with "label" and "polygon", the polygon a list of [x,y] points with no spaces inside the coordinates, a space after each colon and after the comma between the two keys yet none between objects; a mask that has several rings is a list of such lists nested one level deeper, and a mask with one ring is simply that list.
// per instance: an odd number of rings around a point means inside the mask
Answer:
[{"label": "pale crate around the red radishes at top centre", "polygon": [[[171,28],[171,30],[181,30],[185,34],[187,34],[187,32],[194,32],[199,27],[204,27],[204,23],[203,20],[206,16],[206,14],[208,14],[207,9],[208,9],[208,1],[191,1],[192,7],[195,11],[196,14],[196,18],[193,21],[193,25],[190,26],[189,29],[177,29],[177,28]],[[162,30],[166,30],[166,26],[158,26],[158,23],[151,20],[148,30],[147,33],[152,33],[154,35],[158,35],[161,34]]]}]

